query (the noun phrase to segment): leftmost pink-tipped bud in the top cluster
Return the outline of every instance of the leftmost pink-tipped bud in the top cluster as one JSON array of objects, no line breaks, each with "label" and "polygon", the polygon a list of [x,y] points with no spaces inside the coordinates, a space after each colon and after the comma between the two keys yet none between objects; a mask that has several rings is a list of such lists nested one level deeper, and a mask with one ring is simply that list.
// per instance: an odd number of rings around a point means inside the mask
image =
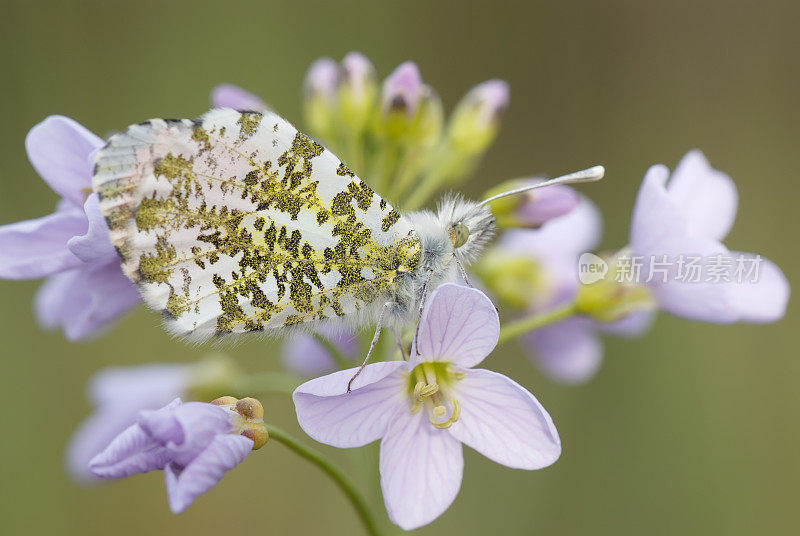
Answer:
[{"label": "leftmost pink-tipped bud in the top cluster", "polygon": [[335,136],[336,90],[339,85],[339,65],[330,58],[320,58],[311,64],[304,83],[303,112],[308,131],[314,136],[331,140]]}]

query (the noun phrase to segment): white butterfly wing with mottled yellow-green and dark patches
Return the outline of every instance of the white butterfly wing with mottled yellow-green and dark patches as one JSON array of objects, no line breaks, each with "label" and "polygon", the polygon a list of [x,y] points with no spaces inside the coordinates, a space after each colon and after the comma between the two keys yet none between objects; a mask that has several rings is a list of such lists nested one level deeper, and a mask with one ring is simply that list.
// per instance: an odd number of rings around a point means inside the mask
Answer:
[{"label": "white butterfly wing with mottled yellow-green and dark patches", "polygon": [[94,189],[123,271],[179,335],[354,317],[419,261],[408,220],[271,112],[133,125]]}]

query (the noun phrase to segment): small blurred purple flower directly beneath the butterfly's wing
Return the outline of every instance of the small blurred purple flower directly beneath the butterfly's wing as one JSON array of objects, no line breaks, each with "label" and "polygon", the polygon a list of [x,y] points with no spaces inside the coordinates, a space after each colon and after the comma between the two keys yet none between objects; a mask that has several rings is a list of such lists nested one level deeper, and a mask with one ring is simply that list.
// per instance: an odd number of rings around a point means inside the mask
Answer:
[{"label": "small blurred purple flower directly beneath the butterfly's wing", "polygon": [[[344,357],[353,359],[359,351],[358,341],[350,331],[322,329],[320,336],[330,342]],[[341,368],[325,346],[311,335],[300,335],[283,345],[284,366],[300,376],[319,376]]]}]

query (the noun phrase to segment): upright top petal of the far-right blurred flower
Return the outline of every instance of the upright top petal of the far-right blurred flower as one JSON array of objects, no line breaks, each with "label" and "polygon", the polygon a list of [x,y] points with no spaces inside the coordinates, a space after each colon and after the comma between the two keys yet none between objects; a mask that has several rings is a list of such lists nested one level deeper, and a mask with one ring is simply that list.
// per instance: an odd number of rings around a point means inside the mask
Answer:
[{"label": "upright top petal of the far-right blurred flower", "polygon": [[686,214],[689,232],[723,240],[733,227],[739,195],[733,180],[712,168],[697,149],[686,153],[667,185],[669,195]]}]

